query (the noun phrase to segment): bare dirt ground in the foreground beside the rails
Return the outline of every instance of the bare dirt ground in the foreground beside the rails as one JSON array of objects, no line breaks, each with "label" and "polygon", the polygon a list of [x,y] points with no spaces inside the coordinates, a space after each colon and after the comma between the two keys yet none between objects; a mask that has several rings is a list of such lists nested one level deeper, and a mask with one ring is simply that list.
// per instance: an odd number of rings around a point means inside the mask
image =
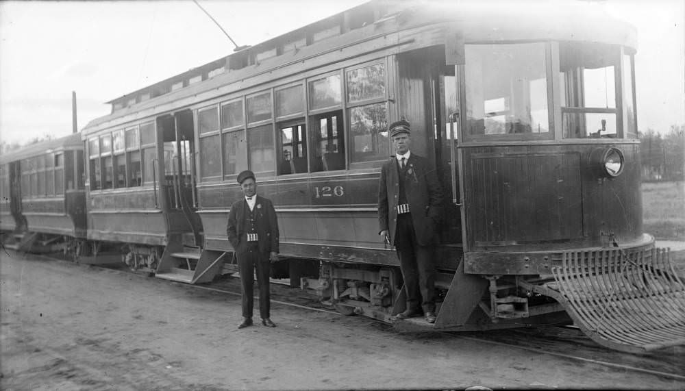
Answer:
[{"label": "bare dirt ground in the foreground beside the rails", "polygon": [[[94,266],[0,255],[3,390],[682,389],[684,381],[272,306]],[[573,352],[564,352],[573,353]]]}]

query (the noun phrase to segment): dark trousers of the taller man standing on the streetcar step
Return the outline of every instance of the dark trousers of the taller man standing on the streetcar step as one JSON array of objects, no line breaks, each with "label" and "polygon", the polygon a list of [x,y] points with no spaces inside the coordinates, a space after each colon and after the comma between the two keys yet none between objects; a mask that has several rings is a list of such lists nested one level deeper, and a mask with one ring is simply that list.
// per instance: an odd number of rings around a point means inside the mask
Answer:
[{"label": "dark trousers of the taller man standing on the streetcar step", "polygon": [[407,310],[435,312],[435,260],[431,246],[416,242],[410,213],[397,215],[395,249],[407,295]]}]

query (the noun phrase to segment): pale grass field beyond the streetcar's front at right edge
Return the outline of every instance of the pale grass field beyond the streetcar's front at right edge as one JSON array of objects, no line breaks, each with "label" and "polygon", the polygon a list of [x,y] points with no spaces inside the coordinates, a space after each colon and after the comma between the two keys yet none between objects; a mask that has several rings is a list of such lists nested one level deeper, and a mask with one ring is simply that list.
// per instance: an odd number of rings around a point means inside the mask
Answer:
[{"label": "pale grass field beyond the streetcar's front at right edge", "polygon": [[644,231],[661,240],[685,241],[685,181],[645,182]]}]

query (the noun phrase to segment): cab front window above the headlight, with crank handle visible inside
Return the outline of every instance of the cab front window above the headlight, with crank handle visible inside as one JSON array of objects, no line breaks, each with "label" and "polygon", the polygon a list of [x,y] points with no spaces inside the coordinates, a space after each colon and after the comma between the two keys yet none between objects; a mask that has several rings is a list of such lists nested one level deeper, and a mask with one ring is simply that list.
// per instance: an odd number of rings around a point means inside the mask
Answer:
[{"label": "cab front window above the headlight, with crank handle visible inside", "polygon": [[617,136],[619,50],[603,44],[560,43],[558,77],[564,138]]}]

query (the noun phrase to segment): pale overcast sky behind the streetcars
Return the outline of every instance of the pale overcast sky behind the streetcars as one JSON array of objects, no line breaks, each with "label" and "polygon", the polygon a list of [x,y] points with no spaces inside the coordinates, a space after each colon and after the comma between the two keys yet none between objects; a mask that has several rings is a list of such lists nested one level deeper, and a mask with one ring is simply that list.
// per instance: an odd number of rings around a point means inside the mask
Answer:
[{"label": "pale overcast sky behind the streetcars", "polygon": [[[556,0],[550,0],[556,1]],[[364,3],[199,0],[238,45],[255,45]],[[685,123],[685,0],[609,0],[638,29],[638,127]],[[232,53],[191,0],[0,2],[0,137],[71,133],[109,114],[116,97]]]}]

